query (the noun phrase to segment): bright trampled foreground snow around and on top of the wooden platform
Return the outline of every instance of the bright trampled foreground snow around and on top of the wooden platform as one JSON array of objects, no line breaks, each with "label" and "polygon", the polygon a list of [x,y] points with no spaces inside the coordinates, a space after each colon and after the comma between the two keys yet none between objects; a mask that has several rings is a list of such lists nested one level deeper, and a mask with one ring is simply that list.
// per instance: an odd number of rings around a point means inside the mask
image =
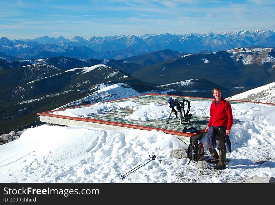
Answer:
[{"label": "bright trampled foreground snow around and on top of the wooden platform", "polygon": [[[209,117],[210,103],[192,101],[193,116]],[[104,115],[108,110],[125,107],[134,110],[128,120],[166,119],[169,112],[167,105],[139,105],[131,101],[67,110],[89,116],[91,112]],[[253,176],[275,177],[274,108],[251,102],[232,103],[233,117],[238,123],[232,125],[230,133],[230,161],[221,171],[200,170],[195,161],[188,165],[189,159],[171,156],[171,151],[187,145],[163,131],[42,125],[1,145],[4,154],[0,155],[0,183],[230,183]],[[205,145],[206,136],[201,141]],[[206,146],[205,152],[205,157],[209,157]],[[121,179],[121,175],[148,160],[150,154],[156,155],[156,159]],[[262,161],[257,163],[259,160]]]}]

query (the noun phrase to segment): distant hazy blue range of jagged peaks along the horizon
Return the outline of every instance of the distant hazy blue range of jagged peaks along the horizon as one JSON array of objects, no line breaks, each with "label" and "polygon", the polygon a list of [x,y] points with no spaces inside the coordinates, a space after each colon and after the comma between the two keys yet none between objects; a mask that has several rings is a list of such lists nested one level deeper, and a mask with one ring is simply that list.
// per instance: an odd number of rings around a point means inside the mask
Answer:
[{"label": "distant hazy blue range of jagged peaks along the horizon", "polygon": [[[43,36],[35,39],[0,38],[0,51],[21,59],[41,59],[57,56],[70,58],[123,59],[157,50],[171,49],[185,53],[224,51],[238,47],[275,45],[271,30],[234,31],[230,33],[170,33],[66,39]],[[2,54],[0,53],[0,57]],[[15,59],[15,58],[14,58]]]}]

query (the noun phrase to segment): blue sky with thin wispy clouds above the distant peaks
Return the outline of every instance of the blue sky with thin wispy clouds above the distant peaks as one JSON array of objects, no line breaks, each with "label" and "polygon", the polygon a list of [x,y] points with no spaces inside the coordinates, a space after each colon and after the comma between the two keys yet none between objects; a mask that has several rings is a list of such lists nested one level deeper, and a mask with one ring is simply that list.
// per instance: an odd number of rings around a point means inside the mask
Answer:
[{"label": "blue sky with thin wispy clouds above the distant peaks", "polygon": [[0,38],[275,30],[274,0],[0,0]]}]

